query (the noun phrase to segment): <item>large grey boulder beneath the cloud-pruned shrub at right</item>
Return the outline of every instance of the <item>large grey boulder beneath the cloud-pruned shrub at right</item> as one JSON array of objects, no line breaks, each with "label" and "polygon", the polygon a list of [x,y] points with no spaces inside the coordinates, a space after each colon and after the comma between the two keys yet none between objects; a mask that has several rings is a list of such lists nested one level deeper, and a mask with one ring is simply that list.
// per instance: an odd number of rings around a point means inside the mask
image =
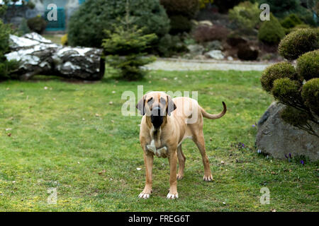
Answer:
[{"label": "large grey boulder beneath the cloud-pruned shrub at right", "polygon": [[[284,122],[280,117],[284,107],[286,106],[273,102],[259,120],[257,150],[279,159],[285,159],[285,155],[291,153],[292,157],[304,155],[310,160],[319,160],[318,137]],[[316,133],[319,132],[318,125],[310,125]]]}]

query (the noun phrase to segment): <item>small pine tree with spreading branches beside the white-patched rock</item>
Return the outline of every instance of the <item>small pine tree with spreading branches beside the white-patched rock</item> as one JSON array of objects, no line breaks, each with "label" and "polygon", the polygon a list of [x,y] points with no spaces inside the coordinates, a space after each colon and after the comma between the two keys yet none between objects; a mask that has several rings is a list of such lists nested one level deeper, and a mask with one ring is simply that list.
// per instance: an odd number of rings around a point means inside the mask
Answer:
[{"label": "small pine tree with spreading branches beside the white-patched rock", "polygon": [[120,69],[122,77],[127,80],[142,78],[145,71],[141,67],[155,61],[154,57],[145,57],[145,49],[157,39],[157,35],[144,35],[142,29],[133,25],[133,20],[127,1],[126,15],[122,24],[114,25],[112,30],[106,30],[107,38],[102,43],[108,64]]}]

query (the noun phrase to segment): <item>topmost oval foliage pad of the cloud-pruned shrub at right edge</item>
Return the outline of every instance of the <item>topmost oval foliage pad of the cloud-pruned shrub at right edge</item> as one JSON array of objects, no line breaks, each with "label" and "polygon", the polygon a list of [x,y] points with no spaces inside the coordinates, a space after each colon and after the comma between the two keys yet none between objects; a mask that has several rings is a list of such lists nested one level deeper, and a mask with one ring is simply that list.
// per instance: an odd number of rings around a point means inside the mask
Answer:
[{"label": "topmost oval foliage pad of the cloud-pruned shrub at right edge", "polygon": [[299,29],[286,35],[279,44],[279,54],[293,60],[302,54],[318,49],[319,32],[314,29]]}]

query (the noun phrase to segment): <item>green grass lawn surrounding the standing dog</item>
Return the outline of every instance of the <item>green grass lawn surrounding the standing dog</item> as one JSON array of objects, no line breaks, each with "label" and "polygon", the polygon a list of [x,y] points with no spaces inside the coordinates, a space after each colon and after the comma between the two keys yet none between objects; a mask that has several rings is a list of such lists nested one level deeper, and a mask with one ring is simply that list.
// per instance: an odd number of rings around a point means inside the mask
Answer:
[{"label": "green grass lawn surrounding the standing dog", "polygon": [[[252,124],[272,102],[259,76],[255,71],[151,71],[140,82],[38,77],[0,83],[0,210],[318,211],[318,165],[274,160],[254,148]],[[145,92],[198,91],[198,102],[213,114],[226,102],[225,117],[204,120],[213,182],[203,182],[201,155],[188,140],[179,199],[166,198],[169,165],[162,158],[155,158],[151,198],[138,199],[145,184],[141,117],[121,115],[123,91],[137,93],[138,85]],[[47,203],[52,187],[57,205]],[[270,190],[269,205],[259,203],[262,187]]]}]

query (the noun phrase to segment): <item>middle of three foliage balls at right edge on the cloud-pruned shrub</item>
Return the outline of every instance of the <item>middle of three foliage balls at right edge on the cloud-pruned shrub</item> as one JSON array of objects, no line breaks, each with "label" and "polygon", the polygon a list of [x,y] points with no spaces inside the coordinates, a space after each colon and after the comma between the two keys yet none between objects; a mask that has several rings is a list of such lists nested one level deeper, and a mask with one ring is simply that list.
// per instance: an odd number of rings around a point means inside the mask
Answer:
[{"label": "middle of three foliage balls at right edge on the cloud-pruned shrub", "polygon": [[307,52],[297,59],[297,72],[306,81],[319,78],[319,50]]}]

